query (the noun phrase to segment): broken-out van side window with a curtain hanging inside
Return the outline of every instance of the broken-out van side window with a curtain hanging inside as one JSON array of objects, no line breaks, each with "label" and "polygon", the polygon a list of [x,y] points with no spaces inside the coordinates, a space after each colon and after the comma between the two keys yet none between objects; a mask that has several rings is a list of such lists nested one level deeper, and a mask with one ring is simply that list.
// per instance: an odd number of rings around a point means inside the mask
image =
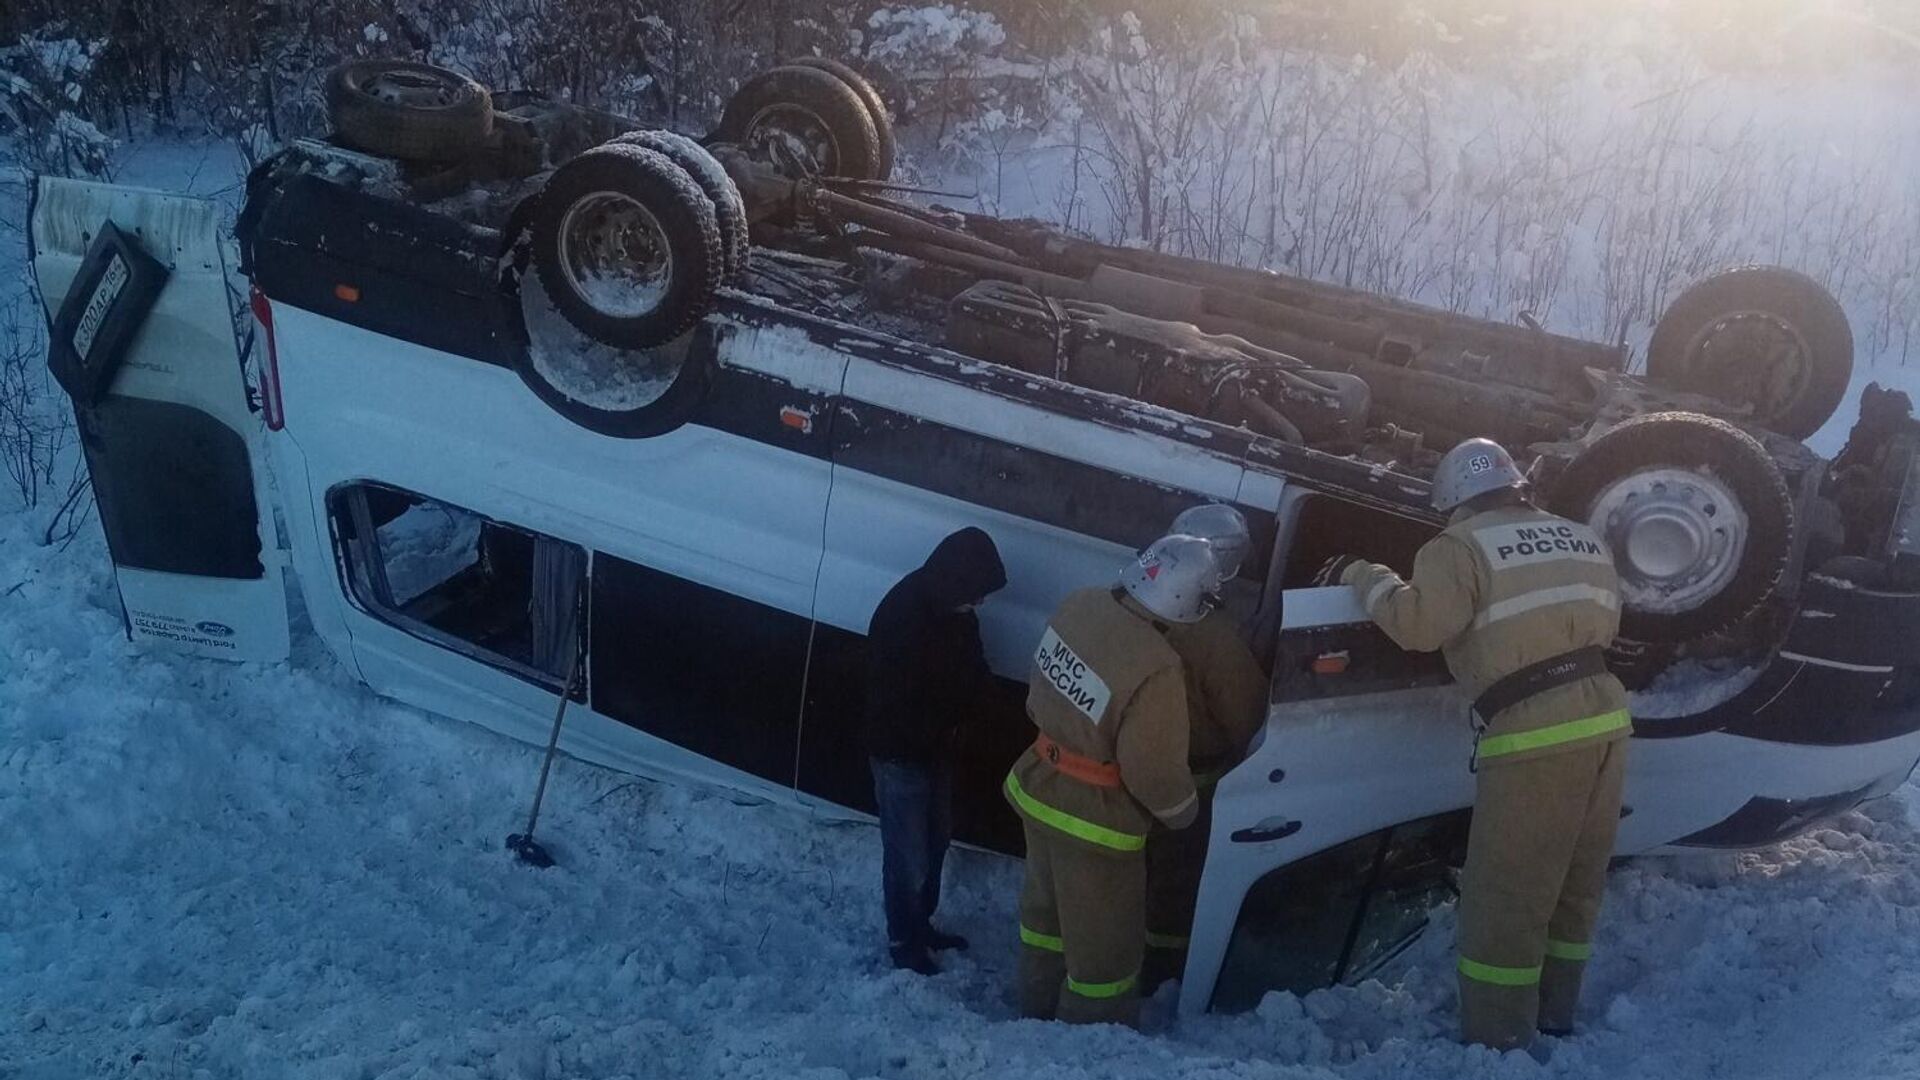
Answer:
[{"label": "broken-out van side window with a curtain hanging inside", "polygon": [[574,663],[574,544],[384,484],[328,496],[348,592],[392,626],[559,686]]}]

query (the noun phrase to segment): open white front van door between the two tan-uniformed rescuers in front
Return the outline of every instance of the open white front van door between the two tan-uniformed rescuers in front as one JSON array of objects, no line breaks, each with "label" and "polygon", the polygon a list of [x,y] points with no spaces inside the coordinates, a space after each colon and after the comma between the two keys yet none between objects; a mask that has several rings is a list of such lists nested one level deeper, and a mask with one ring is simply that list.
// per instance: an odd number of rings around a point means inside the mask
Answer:
[{"label": "open white front van door between the two tan-uniformed rescuers in front", "polygon": [[1467,705],[1350,588],[1283,594],[1267,723],[1213,796],[1181,1013],[1352,980],[1444,899],[1473,803]]}]

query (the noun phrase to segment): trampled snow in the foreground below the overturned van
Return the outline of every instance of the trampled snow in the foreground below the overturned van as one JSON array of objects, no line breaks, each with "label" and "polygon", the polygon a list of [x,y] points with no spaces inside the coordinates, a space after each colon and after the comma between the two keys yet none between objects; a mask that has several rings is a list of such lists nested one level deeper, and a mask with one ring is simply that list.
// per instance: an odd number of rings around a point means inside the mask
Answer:
[{"label": "trampled snow in the foreground below the overturned van", "polygon": [[[121,179],[232,192],[230,163]],[[17,190],[0,282],[19,284]],[[0,496],[0,500],[10,496]],[[1920,790],[1613,876],[1586,1030],[1452,1042],[1452,917],[1380,980],[1148,1032],[1014,1019],[1018,865],[958,853],[931,980],[881,963],[862,824],[563,761],[280,665],[134,651],[98,528],[0,502],[0,1076],[1847,1078],[1920,1074]]]}]

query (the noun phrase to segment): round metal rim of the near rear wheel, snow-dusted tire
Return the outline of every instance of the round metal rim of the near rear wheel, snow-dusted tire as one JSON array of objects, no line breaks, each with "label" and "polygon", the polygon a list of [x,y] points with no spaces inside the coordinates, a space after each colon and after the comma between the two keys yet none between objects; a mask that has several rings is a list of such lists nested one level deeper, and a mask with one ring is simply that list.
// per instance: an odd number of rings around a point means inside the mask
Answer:
[{"label": "round metal rim of the near rear wheel, snow-dusted tire", "polygon": [[612,319],[651,315],[674,281],[674,254],[651,209],[622,192],[580,196],[561,217],[566,286]]}]

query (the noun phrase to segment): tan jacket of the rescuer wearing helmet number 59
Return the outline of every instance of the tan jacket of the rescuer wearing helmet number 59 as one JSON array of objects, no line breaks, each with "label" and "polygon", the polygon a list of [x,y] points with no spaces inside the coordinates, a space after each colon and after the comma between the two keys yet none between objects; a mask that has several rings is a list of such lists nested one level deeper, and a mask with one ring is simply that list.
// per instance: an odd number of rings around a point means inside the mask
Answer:
[{"label": "tan jacket of the rescuer wearing helmet number 59", "polygon": [[[1605,544],[1586,525],[1528,505],[1453,521],[1415,555],[1411,580],[1356,563],[1346,582],[1402,648],[1446,653],[1469,696],[1559,653],[1609,646],[1620,630],[1620,582]],[[1482,721],[1482,765],[1632,730],[1626,688],[1611,675],[1548,690]]]}]

